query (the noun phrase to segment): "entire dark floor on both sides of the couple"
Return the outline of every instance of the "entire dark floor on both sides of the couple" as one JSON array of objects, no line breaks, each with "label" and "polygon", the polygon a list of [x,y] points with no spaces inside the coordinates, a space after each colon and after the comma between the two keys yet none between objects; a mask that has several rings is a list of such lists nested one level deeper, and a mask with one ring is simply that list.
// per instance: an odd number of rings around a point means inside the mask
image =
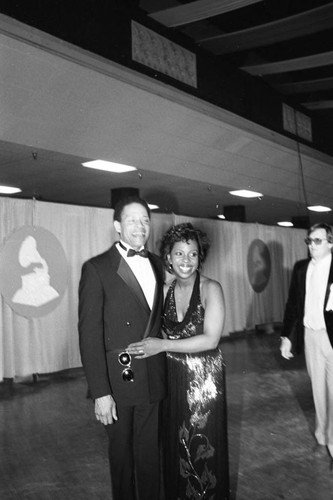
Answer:
[{"label": "entire dark floor on both sides of the couple", "polygon": [[[302,357],[279,335],[223,343],[231,500],[333,500],[328,456],[314,458],[314,411]],[[109,500],[104,430],[81,370],[0,384],[0,499]],[[217,499],[218,500],[218,499]]]}]

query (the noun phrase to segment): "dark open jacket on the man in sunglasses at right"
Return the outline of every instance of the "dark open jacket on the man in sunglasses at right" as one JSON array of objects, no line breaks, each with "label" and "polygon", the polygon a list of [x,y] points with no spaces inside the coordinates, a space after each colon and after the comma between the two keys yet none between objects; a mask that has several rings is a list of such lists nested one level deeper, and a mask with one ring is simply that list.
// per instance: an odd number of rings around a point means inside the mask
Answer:
[{"label": "dark open jacket on the man in sunglasses at right", "polygon": [[[310,259],[305,259],[295,264],[286,309],[283,319],[281,335],[289,337],[295,347],[296,352],[301,352],[304,347],[304,306],[305,306],[305,285],[306,272]],[[326,305],[330,294],[330,287],[333,283],[333,259],[329,271],[326,294],[324,300],[324,318],[328,337],[333,347],[333,311],[326,311]],[[333,292],[332,292],[333,293]]]}]

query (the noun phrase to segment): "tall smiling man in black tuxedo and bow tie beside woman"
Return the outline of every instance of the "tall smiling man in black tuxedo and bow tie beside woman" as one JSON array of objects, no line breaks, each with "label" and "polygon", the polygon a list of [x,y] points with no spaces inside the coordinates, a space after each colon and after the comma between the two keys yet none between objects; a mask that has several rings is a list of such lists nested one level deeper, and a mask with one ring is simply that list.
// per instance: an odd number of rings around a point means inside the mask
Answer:
[{"label": "tall smiling man in black tuxedo and bow tie beside woman", "polygon": [[121,200],[114,226],[120,241],[82,267],[80,352],[96,418],[109,438],[113,500],[158,500],[165,358],[135,359],[126,347],[160,336],[163,268],[145,249],[150,210],[144,200]]}]

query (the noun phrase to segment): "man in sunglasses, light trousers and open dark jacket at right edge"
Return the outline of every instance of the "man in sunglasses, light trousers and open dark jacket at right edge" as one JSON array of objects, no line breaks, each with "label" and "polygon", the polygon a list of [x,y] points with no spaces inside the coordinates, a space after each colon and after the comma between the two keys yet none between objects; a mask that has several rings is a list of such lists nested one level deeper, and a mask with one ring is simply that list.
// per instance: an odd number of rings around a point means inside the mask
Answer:
[{"label": "man in sunglasses, light trousers and open dark jacket at right edge", "polygon": [[316,411],[316,456],[333,463],[333,232],[312,226],[305,238],[310,259],[296,263],[286,304],[281,354],[290,359],[305,350]]}]

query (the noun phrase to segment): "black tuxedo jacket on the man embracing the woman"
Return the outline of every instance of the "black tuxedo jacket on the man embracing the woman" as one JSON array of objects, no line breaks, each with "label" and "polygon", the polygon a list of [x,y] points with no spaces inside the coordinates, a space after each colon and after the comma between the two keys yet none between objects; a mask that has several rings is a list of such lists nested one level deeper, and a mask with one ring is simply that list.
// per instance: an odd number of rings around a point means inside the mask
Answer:
[{"label": "black tuxedo jacket on the man embracing the woman", "polygon": [[131,268],[115,245],[82,266],[79,285],[79,343],[93,399],[111,394],[116,403],[137,405],[165,396],[165,355],[132,357],[134,382],[122,378],[118,355],[131,342],[159,337],[163,305],[163,270],[149,253],[156,277],[152,310]]}]

